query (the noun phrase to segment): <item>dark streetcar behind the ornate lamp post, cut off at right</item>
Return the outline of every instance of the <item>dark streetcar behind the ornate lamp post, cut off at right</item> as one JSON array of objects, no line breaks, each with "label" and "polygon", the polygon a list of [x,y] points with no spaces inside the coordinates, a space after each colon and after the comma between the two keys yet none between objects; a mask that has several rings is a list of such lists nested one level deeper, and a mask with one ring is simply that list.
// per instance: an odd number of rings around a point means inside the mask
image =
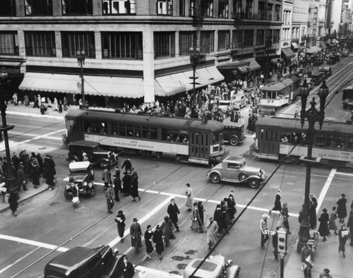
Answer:
[{"label": "dark streetcar behind the ornate lamp post, cut off at right", "polygon": [[[306,127],[308,126],[305,123]],[[301,156],[306,157],[308,145],[306,129],[301,128],[297,119],[263,117],[256,121],[255,150],[263,159],[282,160],[292,150],[286,162],[297,163]],[[321,162],[333,167],[344,167],[353,162],[353,130],[348,123],[324,122],[317,128],[313,142],[313,159],[321,157]]]}]

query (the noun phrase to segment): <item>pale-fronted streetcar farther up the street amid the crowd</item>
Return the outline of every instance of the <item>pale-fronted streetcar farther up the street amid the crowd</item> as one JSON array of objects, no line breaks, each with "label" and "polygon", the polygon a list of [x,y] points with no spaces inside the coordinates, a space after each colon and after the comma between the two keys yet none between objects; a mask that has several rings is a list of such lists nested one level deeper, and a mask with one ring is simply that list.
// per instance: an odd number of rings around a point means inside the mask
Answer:
[{"label": "pale-fronted streetcar farther up the street amid the crowd", "polygon": [[292,103],[299,94],[300,82],[301,78],[297,75],[290,75],[261,87],[260,113],[274,114],[281,107]]}]

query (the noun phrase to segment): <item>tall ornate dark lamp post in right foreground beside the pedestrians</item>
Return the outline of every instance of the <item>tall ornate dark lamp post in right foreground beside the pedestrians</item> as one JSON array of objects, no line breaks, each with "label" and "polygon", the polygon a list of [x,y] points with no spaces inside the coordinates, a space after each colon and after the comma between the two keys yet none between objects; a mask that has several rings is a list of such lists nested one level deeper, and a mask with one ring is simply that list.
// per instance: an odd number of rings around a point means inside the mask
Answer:
[{"label": "tall ornate dark lamp post in right foreground beside the pedestrians", "polygon": [[309,128],[306,131],[306,143],[308,145],[308,152],[305,157],[301,157],[301,160],[306,163],[306,179],[305,179],[305,193],[304,193],[304,205],[303,205],[303,219],[299,228],[299,241],[297,246],[297,251],[300,253],[301,248],[305,245],[306,242],[309,241],[309,194],[310,194],[310,177],[311,177],[311,165],[320,162],[320,157],[313,160],[311,157],[313,152],[313,140],[315,138],[315,123],[318,121],[320,129],[323,126],[323,119],[325,119],[325,102],[328,97],[328,86],[323,80],[323,84],[318,90],[318,96],[320,97],[320,111],[316,109],[315,97],[311,100],[311,107],[306,110],[306,100],[309,97],[309,86],[306,83],[306,79],[304,79],[304,83],[301,85],[299,95],[301,97],[301,111],[300,111],[300,119],[301,119],[301,127],[304,126],[305,120],[308,121]]}]

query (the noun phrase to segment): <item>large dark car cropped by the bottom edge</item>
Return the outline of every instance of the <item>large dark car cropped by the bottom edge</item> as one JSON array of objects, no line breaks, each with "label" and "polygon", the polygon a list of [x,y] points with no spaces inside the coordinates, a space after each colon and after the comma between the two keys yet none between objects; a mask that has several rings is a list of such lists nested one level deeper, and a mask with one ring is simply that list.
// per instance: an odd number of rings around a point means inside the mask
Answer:
[{"label": "large dark car cropped by the bottom edge", "polygon": [[115,278],[121,277],[119,258],[110,246],[74,247],[50,260],[44,278]]}]

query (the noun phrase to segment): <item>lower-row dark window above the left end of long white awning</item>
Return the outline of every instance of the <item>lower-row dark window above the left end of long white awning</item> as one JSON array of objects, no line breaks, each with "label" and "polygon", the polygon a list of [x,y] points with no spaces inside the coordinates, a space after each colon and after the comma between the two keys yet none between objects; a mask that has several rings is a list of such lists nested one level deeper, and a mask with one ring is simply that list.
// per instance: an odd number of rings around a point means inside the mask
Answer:
[{"label": "lower-row dark window above the left end of long white awning", "polygon": [[27,56],[56,56],[54,32],[25,32]]}]

